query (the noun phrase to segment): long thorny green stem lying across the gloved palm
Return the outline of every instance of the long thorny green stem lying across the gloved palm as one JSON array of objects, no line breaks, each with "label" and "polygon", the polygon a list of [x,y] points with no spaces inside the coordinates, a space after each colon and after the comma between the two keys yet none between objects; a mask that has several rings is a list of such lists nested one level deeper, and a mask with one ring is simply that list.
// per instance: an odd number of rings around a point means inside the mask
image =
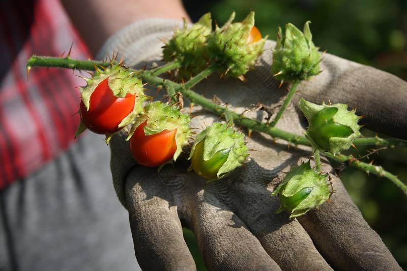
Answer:
[{"label": "long thorny green stem lying across the gloved palm", "polygon": [[[100,62],[100,61],[91,61],[91,60],[76,60],[71,59],[69,57],[45,57],[45,56],[32,56],[27,61],[27,69],[30,69],[34,66],[44,66],[44,67],[64,67],[68,69],[77,69],[77,70],[95,70],[95,65],[99,66],[109,66],[111,62]],[[166,69],[169,65],[166,67]],[[158,69],[160,70],[160,69]],[[199,83],[201,80],[208,77],[213,71],[215,70],[215,66],[210,66],[207,70],[201,72],[197,76],[193,77],[184,85],[164,80],[160,77],[154,76],[157,74],[157,70],[153,71],[142,71],[140,72],[139,76],[145,81],[154,86],[164,86],[166,89],[172,89],[174,92],[179,91],[183,94],[184,97],[188,98],[191,103],[198,104],[203,108],[221,116],[227,115],[229,118],[235,121],[235,123],[242,125],[250,130],[256,130],[259,132],[264,132],[272,136],[273,138],[278,138],[285,140],[289,143],[294,145],[305,145],[310,146],[311,144],[309,141],[299,134],[291,133],[285,130],[281,130],[271,126],[271,124],[267,124],[264,122],[259,122],[250,118],[243,117],[240,114],[235,113],[234,111],[230,111],[227,108],[219,106],[213,103],[211,100],[199,95],[198,93],[188,89],[192,86]],[[162,70],[161,70],[162,71]],[[294,85],[293,85],[294,87]],[[293,91],[293,88],[290,92]],[[295,89],[294,89],[295,91]],[[294,94],[293,91],[293,94]],[[169,93],[168,93],[169,94]],[[287,97],[288,98],[288,97]],[[281,113],[282,114],[282,113]],[[379,137],[374,138],[359,138],[355,139],[355,145],[381,145],[381,146],[390,146],[390,147],[407,147],[407,141],[404,140],[397,140],[397,139],[381,139]],[[400,189],[407,195],[407,185],[403,184],[397,176],[385,171],[383,167],[376,166],[373,164],[368,164],[355,159],[353,156],[346,156],[346,155],[333,155],[329,152],[323,152],[323,154],[331,158],[332,160],[339,161],[345,163],[350,166],[354,166],[364,170],[367,173],[373,173],[377,176],[386,177],[390,181],[392,181],[395,185],[400,187]]]}]

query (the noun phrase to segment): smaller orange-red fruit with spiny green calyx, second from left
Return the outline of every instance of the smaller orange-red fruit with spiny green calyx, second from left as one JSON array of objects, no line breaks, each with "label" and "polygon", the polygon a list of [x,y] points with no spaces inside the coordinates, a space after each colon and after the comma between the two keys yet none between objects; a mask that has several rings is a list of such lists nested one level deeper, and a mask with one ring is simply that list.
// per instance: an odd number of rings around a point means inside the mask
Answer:
[{"label": "smaller orange-red fruit with spiny green calyx, second from left", "polygon": [[191,136],[190,117],[155,101],[146,106],[129,132],[130,149],[139,164],[159,166],[176,160]]}]

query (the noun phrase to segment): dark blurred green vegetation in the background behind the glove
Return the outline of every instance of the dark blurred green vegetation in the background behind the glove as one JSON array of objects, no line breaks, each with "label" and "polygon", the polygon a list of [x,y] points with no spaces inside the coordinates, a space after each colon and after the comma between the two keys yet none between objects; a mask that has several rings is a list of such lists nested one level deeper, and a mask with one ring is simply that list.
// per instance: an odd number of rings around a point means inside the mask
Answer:
[{"label": "dark blurred green vegetation in the background behind the glove", "polygon": [[[232,11],[240,21],[250,9],[263,36],[275,40],[278,26],[291,22],[302,29],[310,20],[314,43],[322,51],[374,66],[407,80],[407,1],[405,0],[219,0],[184,4],[193,21],[211,12],[222,25]],[[386,89],[383,89],[386,91]],[[407,94],[407,93],[406,93]],[[407,110],[407,105],[406,105]],[[364,130],[366,136],[375,133]],[[359,148],[362,154],[366,149]],[[357,155],[357,151],[352,151]],[[407,181],[407,149],[380,151],[369,157],[374,164]],[[341,179],[369,225],[382,237],[399,264],[407,269],[407,197],[384,178],[346,168]],[[185,238],[204,269],[193,233]]]}]

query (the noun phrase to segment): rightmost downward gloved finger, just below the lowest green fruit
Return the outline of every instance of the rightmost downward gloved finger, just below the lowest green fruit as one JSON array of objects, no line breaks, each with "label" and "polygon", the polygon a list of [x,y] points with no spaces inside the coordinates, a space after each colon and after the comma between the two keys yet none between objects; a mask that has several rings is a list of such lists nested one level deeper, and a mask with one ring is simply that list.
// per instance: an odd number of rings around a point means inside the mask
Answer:
[{"label": "rightmost downward gloved finger, just below the lowest green fruit", "polygon": [[400,270],[380,236],[363,219],[341,181],[334,177],[335,193],[325,202],[298,220],[312,241],[336,269]]}]

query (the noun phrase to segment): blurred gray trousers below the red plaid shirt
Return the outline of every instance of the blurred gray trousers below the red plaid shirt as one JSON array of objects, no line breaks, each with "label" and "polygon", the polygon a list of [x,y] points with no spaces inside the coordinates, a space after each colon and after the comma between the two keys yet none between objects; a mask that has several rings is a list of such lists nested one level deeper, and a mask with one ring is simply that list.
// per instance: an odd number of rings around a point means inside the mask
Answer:
[{"label": "blurred gray trousers below the red plaid shirt", "polygon": [[0,270],[137,270],[109,148],[85,132],[59,157],[0,192]]}]

